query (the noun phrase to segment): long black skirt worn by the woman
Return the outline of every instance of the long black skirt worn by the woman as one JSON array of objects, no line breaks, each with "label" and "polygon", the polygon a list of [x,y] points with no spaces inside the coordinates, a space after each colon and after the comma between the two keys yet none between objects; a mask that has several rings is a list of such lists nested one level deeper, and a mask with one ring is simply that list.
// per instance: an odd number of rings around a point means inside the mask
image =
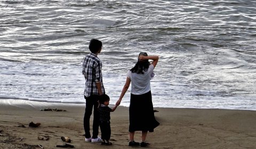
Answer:
[{"label": "long black skirt worn by the woman", "polygon": [[159,125],[154,115],[151,91],[142,95],[131,94],[129,119],[129,132],[153,132]]}]

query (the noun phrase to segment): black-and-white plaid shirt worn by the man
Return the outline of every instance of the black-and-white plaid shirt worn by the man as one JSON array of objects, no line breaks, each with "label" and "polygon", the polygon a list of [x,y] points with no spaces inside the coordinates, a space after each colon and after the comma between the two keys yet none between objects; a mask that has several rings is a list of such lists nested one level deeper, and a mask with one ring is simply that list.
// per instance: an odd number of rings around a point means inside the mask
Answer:
[{"label": "black-and-white plaid shirt worn by the man", "polygon": [[84,96],[99,95],[96,82],[101,82],[102,94],[105,94],[105,89],[102,81],[101,73],[102,63],[97,55],[90,53],[84,56],[83,59],[83,74],[85,78]]}]

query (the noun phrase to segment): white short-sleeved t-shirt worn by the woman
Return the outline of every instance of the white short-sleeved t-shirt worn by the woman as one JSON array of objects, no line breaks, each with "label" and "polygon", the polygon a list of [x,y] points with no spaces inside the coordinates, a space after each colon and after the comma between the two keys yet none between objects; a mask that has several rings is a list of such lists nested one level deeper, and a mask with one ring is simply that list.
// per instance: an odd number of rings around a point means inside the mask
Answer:
[{"label": "white short-sleeved t-shirt worn by the woman", "polygon": [[144,74],[138,74],[136,72],[132,73],[131,70],[129,70],[126,74],[128,78],[131,79],[132,82],[132,89],[131,93],[134,95],[141,95],[148,93],[150,91],[150,79],[151,74],[153,73],[154,65],[150,64],[147,71],[143,71]]}]

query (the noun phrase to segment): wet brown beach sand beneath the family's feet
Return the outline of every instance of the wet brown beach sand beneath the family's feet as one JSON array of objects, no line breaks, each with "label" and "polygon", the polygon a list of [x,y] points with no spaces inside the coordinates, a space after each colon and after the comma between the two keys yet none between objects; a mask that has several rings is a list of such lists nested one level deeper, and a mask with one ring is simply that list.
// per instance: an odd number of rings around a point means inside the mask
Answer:
[{"label": "wet brown beach sand beneath the family's feet", "polygon": [[[1,101],[1,99],[0,99]],[[6,100],[5,100],[6,101]],[[132,148],[129,143],[129,108],[118,106],[111,112],[111,146],[84,141],[85,104],[63,104],[15,100],[0,102],[0,148],[58,148],[61,136],[75,148]],[[66,111],[41,111],[41,109]],[[217,109],[155,108],[161,123],[148,133],[147,148],[256,148],[256,111]],[[29,127],[29,123],[41,123]],[[22,127],[23,126],[23,127]],[[92,133],[92,132],[91,132]],[[135,133],[140,142],[141,133]],[[44,138],[39,140],[38,136]],[[99,134],[100,136],[100,134]],[[45,138],[49,138],[45,140]],[[136,147],[141,148],[141,147]]]}]

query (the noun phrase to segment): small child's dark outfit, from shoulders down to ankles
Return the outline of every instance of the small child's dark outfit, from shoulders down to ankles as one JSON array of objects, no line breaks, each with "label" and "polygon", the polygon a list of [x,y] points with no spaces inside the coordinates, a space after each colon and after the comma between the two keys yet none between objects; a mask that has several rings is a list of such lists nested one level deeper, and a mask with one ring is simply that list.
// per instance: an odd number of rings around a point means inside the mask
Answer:
[{"label": "small child's dark outfit, from shoulders down to ankles", "polygon": [[100,131],[101,131],[101,139],[108,140],[110,139],[111,129],[110,129],[110,112],[112,109],[110,107],[100,104],[98,108],[100,114]]}]

